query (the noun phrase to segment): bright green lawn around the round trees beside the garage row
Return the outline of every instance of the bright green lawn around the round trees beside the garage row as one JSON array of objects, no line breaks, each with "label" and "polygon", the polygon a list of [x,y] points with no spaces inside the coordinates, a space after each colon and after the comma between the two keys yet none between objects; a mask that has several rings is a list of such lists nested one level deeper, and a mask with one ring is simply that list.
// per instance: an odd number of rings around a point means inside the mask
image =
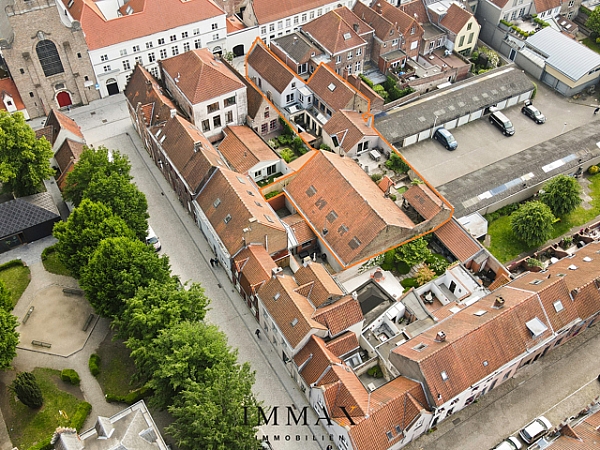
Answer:
[{"label": "bright green lawn around the round trees beside the garage row", "polygon": [[[568,233],[573,227],[590,222],[600,215],[600,174],[592,175],[588,179],[591,182],[592,209],[583,209],[579,206],[575,211],[561,218],[553,226],[551,240]],[[488,250],[502,263],[515,259],[523,252],[529,252],[537,248],[536,246],[527,246],[515,236],[510,228],[510,216],[502,216],[490,222],[488,234],[490,236]],[[540,247],[543,247],[543,245],[540,245]]]}]

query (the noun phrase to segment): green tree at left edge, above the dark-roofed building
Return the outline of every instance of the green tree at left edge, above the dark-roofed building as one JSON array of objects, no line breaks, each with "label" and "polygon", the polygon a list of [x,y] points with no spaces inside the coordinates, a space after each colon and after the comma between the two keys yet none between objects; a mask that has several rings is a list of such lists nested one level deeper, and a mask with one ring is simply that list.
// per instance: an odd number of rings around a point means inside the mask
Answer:
[{"label": "green tree at left edge, above the dark-roofed building", "polygon": [[38,192],[51,177],[52,146],[25,122],[21,113],[0,111],[0,182],[4,190],[21,197]]}]

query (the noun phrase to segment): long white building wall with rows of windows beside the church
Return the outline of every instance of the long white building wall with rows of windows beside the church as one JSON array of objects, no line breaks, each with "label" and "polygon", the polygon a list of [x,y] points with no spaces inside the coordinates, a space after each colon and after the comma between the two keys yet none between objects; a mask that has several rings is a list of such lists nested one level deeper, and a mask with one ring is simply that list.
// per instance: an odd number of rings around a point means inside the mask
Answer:
[{"label": "long white building wall with rows of windows beside the church", "polygon": [[[212,28],[213,25],[216,26],[215,29]],[[175,39],[172,40],[172,37]],[[123,91],[137,62],[140,62],[155,78],[159,78],[161,76],[159,60],[196,48],[206,47],[214,53],[224,51],[226,37],[227,26],[223,14],[152,36],[90,50],[89,55],[98,79],[100,96],[109,95],[107,89],[109,80],[116,80],[119,91]]]}]

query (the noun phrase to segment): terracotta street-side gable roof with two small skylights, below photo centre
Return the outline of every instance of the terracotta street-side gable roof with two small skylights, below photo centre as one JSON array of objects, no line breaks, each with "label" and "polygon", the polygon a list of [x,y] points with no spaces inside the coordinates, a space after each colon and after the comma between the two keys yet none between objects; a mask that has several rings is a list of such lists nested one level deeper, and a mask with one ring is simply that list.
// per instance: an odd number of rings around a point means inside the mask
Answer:
[{"label": "terracotta street-side gable roof with two small skylights, below photo centre", "polygon": [[297,288],[294,278],[277,275],[258,291],[262,304],[292,348],[296,348],[309,333],[326,330],[311,318],[314,307],[306,297],[296,292]]}]

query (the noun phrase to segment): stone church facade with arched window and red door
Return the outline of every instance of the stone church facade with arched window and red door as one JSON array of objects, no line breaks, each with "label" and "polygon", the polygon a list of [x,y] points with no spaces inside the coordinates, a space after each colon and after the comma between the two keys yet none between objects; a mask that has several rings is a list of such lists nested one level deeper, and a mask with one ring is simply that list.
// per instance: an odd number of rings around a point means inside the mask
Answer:
[{"label": "stone church facade with arched window and red door", "polygon": [[0,0],[0,48],[31,118],[100,98],[79,22],[54,0]]}]

